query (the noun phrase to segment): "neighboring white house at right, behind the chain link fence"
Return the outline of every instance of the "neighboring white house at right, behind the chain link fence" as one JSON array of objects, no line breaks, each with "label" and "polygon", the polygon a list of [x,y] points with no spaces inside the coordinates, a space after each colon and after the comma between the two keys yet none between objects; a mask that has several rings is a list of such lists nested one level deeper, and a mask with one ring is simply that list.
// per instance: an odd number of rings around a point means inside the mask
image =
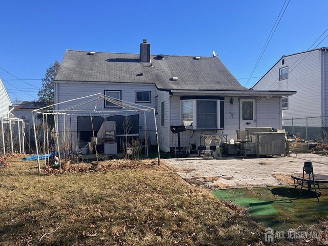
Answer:
[{"label": "neighboring white house at right, behind the chain link fence", "polygon": [[282,97],[282,118],[328,116],[328,48],[283,55],[254,90],[297,91]]}]

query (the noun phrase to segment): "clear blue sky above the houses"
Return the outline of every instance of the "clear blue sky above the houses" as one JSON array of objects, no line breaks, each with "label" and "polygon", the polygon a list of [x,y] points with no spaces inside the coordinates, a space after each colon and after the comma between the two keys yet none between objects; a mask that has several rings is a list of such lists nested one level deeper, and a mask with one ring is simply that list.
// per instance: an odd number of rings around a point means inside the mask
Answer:
[{"label": "clear blue sky above the houses", "polygon": [[[2,0],[0,67],[40,87],[41,80],[28,79],[44,77],[66,49],[138,53],[147,38],[152,54],[211,56],[214,50],[245,85],[284,2]],[[328,28],[326,3],[290,1],[253,77],[315,42]],[[319,45],[327,46],[328,38]],[[37,99],[37,88],[2,69],[0,77],[12,100]]]}]

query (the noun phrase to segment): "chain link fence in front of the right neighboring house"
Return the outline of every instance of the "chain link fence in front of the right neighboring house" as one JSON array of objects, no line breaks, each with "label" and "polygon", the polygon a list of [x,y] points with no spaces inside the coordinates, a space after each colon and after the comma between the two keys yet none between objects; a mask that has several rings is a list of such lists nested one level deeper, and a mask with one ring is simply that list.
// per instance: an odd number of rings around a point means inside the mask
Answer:
[{"label": "chain link fence in front of the right neighboring house", "polygon": [[328,141],[327,117],[291,118],[282,120],[282,128],[305,141]]}]

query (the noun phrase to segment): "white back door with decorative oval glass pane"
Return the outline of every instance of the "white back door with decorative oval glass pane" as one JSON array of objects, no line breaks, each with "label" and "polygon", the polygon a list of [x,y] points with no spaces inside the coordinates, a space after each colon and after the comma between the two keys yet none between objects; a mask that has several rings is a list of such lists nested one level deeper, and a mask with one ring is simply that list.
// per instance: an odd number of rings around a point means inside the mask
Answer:
[{"label": "white back door with decorative oval glass pane", "polygon": [[256,127],[256,98],[239,99],[239,129]]}]

